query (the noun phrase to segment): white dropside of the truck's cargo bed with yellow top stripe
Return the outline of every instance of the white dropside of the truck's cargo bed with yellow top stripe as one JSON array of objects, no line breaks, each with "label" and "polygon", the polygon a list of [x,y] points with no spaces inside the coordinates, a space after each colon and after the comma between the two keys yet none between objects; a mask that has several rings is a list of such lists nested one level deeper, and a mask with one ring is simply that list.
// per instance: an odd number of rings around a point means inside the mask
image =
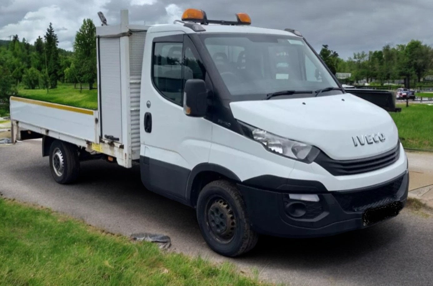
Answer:
[{"label": "white dropside of the truck's cargo bed with yellow top stripe", "polygon": [[100,139],[97,110],[77,108],[20,97],[10,98],[12,142],[52,137],[116,158],[119,165],[132,165],[123,144]]}]

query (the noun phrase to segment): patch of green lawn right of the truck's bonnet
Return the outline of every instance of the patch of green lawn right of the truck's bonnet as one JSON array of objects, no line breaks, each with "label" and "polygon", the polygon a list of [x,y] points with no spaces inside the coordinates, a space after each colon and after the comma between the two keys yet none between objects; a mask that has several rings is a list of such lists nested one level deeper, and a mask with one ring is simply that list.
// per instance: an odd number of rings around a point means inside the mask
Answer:
[{"label": "patch of green lawn right of the truck's bonnet", "polygon": [[397,105],[401,112],[392,112],[401,143],[406,148],[433,150],[433,105]]}]

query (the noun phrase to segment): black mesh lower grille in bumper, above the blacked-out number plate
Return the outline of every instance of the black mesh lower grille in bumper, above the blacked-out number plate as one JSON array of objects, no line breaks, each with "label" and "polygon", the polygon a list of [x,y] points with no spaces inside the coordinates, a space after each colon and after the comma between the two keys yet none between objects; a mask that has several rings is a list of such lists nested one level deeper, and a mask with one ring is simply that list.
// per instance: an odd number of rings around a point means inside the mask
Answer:
[{"label": "black mesh lower grille in bumper, above the blacked-out number plate", "polygon": [[335,191],[333,195],[345,211],[360,212],[372,207],[380,207],[397,200],[397,192],[401,187],[403,177],[381,187],[348,193]]}]

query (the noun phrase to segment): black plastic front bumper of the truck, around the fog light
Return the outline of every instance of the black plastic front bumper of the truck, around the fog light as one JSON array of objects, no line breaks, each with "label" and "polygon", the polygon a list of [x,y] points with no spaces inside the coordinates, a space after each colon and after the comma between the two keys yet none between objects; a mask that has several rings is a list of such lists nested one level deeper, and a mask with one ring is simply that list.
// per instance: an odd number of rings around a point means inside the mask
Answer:
[{"label": "black plastic front bumper of the truck, around the fog light", "polygon": [[294,216],[293,213],[288,212],[288,203],[294,202],[298,205],[307,203],[302,200],[290,199],[284,192],[269,191],[243,184],[239,184],[239,189],[246,204],[252,229],[256,232],[294,238],[323,237],[363,229],[397,215],[398,211],[393,212],[391,216],[382,216],[381,219],[372,224],[365,224],[364,214],[370,209],[375,209],[378,206],[385,209],[392,204],[404,206],[407,200],[409,173],[406,171],[403,177],[399,176],[393,180],[399,178],[401,185],[395,191],[392,201],[385,200],[387,198],[385,195],[384,200],[379,198],[376,203],[368,205],[367,209],[362,208],[355,212],[344,210],[335,197],[339,194],[347,194],[346,192],[317,193],[320,200],[311,206],[310,212],[313,213],[310,216]]}]

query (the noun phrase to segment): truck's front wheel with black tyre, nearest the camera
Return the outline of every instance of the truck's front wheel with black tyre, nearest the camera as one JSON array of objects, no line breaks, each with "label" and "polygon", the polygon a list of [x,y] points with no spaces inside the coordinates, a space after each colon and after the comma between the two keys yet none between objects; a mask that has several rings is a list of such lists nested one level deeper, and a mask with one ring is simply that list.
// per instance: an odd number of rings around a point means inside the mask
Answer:
[{"label": "truck's front wheel with black tyre, nearest the camera", "polygon": [[257,243],[245,203],[229,181],[213,181],[203,188],[197,200],[197,220],[207,245],[224,256],[241,255]]}]

